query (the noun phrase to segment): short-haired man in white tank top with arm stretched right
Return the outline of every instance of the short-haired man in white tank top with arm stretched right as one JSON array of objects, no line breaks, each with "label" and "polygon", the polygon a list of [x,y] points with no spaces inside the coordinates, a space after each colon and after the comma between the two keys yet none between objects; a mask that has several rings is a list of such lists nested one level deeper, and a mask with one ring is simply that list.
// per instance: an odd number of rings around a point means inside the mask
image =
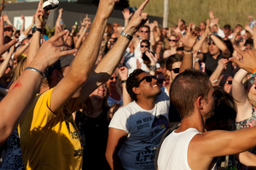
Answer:
[{"label": "short-haired man in white tank top with arm stretched right", "polygon": [[170,99],[182,120],[160,147],[159,170],[209,169],[216,156],[233,155],[256,146],[256,127],[205,132],[206,120],[214,108],[213,88],[205,73],[183,71],[172,82]]}]

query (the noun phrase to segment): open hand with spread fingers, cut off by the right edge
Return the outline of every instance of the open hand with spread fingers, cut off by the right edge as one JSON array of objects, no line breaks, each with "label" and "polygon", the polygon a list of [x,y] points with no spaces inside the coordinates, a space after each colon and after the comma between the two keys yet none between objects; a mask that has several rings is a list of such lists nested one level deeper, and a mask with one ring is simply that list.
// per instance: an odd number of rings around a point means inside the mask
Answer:
[{"label": "open hand with spread fingers, cut off by the right edge", "polygon": [[254,68],[256,68],[256,51],[248,50],[242,51],[241,49],[234,46],[236,52],[241,54],[242,59],[236,59],[235,57],[231,57],[229,60],[236,65],[240,66],[242,69],[252,72]]}]

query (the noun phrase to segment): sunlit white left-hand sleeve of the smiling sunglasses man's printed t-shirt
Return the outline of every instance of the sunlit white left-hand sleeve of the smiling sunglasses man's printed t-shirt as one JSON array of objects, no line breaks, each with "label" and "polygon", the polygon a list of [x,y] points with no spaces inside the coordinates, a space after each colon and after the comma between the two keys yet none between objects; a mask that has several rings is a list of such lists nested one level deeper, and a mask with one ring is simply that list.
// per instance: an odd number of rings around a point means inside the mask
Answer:
[{"label": "sunlit white left-hand sleeve of the smiling sunglasses man's printed t-shirt", "polygon": [[124,130],[126,133],[130,132],[129,123],[127,122],[129,118],[129,111],[121,108],[116,111],[113,115],[111,122],[108,127],[117,128],[119,130]]}]

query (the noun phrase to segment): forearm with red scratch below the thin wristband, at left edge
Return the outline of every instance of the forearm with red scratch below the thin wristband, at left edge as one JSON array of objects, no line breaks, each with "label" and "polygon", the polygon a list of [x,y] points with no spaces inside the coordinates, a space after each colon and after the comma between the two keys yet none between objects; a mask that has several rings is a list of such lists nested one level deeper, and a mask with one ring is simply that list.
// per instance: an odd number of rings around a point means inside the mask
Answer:
[{"label": "forearm with red scratch below the thin wristband, at left edge", "polygon": [[17,127],[38,92],[41,75],[36,71],[24,71],[13,84],[13,88],[0,103],[2,118],[0,121],[0,144]]}]

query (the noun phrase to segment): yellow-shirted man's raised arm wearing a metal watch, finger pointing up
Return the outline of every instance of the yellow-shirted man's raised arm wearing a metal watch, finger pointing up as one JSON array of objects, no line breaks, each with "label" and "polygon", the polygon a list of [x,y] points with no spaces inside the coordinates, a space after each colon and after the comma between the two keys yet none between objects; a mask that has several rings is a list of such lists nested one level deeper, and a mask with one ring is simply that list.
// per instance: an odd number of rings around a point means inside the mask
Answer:
[{"label": "yellow-shirted man's raised arm wearing a metal watch, finger pointing up", "polygon": [[[130,35],[128,37],[132,37],[137,32],[139,27],[146,22],[148,14],[145,14],[142,11],[143,7],[148,3],[148,1],[149,0],[144,1],[142,6],[138,8],[131,17],[128,26],[125,27],[123,32]],[[90,30],[92,30],[92,28]],[[99,65],[97,65],[96,70],[90,75],[89,80],[84,84],[79,102],[84,101],[84,99],[86,99],[87,96],[89,96],[89,94],[93,92],[98,86],[108,81],[108,79],[113,74],[113,71],[119,65],[119,62],[122,59],[123,54],[125,53],[125,49],[128,47],[130,41],[131,39],[125,36],[120,36],[118,38],[117,42],[115,42],[113,45],[113,48],[111,48],[108,51],[108,54],[103,57]]]}]

